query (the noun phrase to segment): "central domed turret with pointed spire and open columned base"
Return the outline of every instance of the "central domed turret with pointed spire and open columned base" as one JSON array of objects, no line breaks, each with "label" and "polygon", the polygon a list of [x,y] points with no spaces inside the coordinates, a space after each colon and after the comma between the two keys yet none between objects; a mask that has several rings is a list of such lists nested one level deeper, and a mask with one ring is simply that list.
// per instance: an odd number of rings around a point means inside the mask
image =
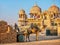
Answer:
[{"label": "central domed turret with pointed spire and open columned base", "polygon": [[40,18],[41,8],[36,4],[30,9],[30,18]]}]

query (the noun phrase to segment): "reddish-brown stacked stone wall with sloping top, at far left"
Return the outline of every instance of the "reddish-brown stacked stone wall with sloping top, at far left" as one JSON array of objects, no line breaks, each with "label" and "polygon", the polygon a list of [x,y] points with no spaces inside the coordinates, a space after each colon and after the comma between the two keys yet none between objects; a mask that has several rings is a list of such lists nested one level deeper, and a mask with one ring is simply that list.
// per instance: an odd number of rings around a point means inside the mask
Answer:
[{"label": "reddish-brown stacked stone wall with sloping top, at far left", "polygon": [[[9,32],[8,27],[10,28]],[[17,33],[13,28],[7,25],[5,22],[0,21],[0,43],[13,43],[17,41]]]}]

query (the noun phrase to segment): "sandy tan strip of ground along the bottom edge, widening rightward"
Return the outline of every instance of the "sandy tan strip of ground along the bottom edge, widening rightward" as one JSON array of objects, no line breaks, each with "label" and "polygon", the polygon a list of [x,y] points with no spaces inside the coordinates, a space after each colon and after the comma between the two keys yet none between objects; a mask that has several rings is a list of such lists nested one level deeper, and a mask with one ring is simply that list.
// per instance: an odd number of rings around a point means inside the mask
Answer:
[{"label": "sandy tan strip of ground along the bottom edge, widening rightward", "polygon": [[11,44],[0,44],[0,45],[60,45],[60,39],[34,41],[34,42],[11,43]]}]

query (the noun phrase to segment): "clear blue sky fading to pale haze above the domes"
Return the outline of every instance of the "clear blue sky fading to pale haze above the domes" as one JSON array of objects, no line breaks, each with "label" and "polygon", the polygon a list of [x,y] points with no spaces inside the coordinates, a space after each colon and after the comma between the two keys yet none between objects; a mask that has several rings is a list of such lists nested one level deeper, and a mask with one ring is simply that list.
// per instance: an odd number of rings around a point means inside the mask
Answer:
[{"label": "clear blue sky fading to pale haze above the domes", "polygon": [[34,4],[42,10],[47,10],[53,4],[60,7],[60,0],[0,0],[0,20],[5,20],[9,24],[18,22],[19,10],[24,9],[29,15]]}]

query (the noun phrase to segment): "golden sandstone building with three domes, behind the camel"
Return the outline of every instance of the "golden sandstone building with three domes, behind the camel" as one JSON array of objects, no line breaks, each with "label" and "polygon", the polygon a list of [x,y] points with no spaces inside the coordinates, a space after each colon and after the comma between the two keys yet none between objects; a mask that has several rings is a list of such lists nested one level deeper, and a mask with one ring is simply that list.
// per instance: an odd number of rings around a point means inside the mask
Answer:
[{"label": "golden sandstone building with three domes, behind the camel", "polygon": [[[60,35],[60,8],[52,5],[48,10],[42,11],[38,5],[30,9],[30,18],[27,17],[24,9],[19,11],[18,26],[25,30],[31,23],[37,24],[42,31],[49,28]],[[45,26],[45,28],[43,28]]]}]

